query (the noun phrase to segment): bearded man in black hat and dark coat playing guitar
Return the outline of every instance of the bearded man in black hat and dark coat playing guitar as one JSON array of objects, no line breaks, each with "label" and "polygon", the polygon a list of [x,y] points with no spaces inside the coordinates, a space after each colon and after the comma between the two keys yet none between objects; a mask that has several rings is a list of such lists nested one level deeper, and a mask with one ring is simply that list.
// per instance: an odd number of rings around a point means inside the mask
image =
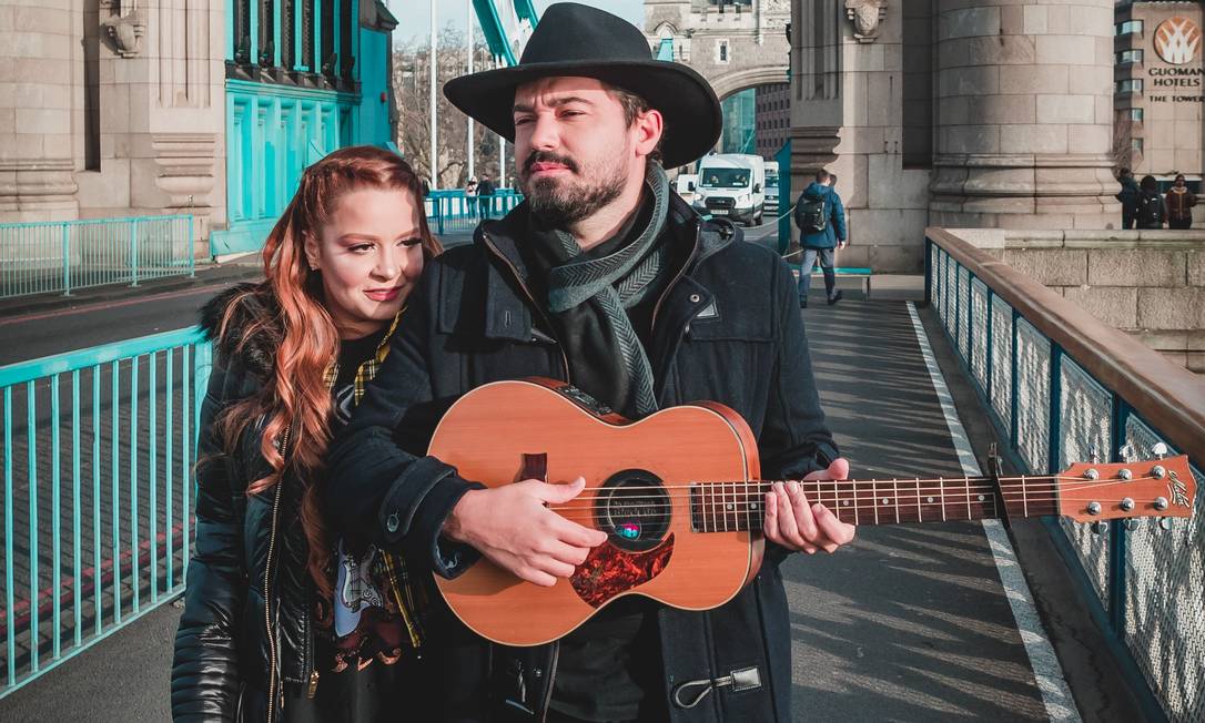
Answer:
[{"label": "bearded man in black hat and dark coat playing guitar", "polygon": [[[565,2],[547,10],[518,65],[443,92],[513,140],[525,200],[434,259],[411,294],[389,357],[333,445],[327,513],[341,533],[446,577],[481,556],[536,584],[569,577],[607,540],[547,509],[582,492],[581,478],[484,489],[425,455],[460,395],[528,376],[570,381],[633,419],[719,401],[753,429],[764,477],[845,478],[790,271],[670,190],[664,167],[719,135],[719,101],[703,77],[652,60],[631,24]],[[798,484],[776,486],[760,572],[722,607],[625,596],[530,648],[443,619],[427,654],[447,689],[433,694],[449,721],[789,721],[778,563],[853,534]]]}]

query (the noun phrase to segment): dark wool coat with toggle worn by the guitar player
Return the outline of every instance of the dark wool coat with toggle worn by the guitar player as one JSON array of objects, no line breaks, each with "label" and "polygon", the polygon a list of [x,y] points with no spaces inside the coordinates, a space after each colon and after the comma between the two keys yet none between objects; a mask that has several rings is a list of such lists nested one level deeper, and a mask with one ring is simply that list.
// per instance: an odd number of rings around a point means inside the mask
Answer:
[{"label": "dark wool coat with toggle worn by the guitar player", "polygon": [[[527,213],[523,204],[482,224],[474,245],[429,264],[388,359],[329,455],[325,506],[333,524],[404,548],[445,577],[477,559],[471,548],[440,536],[457,501],[477,486],[425,455],[440,417],[488,382],[572,381],[553,328],[525,283],[518,249]],[[837,452],[787,265],[743,242],[734,227],[701,222],[676,196],[668,223],[681,252],[675,255],[687,260],[659,299],[647,349],[659,404],[715,400],[736,410],[758,440],[765,478],[798,478],[825,468]],[[790,625],[778,572],[784,557],[782,548],[768,549],[756,580],[719,609],[659,609],[671,721],[790,719]],[[542,719],[557,643],[492,645],[451,616],[445,616],[442,640],[433,635],[429,649],[443,658],[445,719]],[[734,672],[742,684],[724,684]],[[692,681],[699,683],[680,690]],[[703,690],[710,693],[698,704],[681,705]]]}]

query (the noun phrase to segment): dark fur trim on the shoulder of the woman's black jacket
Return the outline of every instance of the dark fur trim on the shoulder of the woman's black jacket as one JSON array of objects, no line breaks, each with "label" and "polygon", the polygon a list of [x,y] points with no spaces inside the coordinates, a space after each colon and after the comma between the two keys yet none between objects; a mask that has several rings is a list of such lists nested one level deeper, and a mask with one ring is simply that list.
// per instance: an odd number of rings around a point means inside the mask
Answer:
[{"label": "dark fur trim on the shoulder of the woman's black jacket", "polygon": [[[272,376],[283,335],[281,307],[268,282],[240,283],[205,302],[200,327],[219,355],[260,380]],[[229,318],[225,334],[222,321]],[[247,331],[253,330],[249,336]]]}]

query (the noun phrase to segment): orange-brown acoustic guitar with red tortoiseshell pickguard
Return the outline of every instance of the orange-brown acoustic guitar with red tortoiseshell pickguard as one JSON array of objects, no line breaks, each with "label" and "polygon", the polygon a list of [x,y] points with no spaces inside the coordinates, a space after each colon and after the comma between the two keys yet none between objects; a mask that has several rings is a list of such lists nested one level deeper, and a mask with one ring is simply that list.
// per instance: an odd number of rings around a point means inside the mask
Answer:
[{"label": "orange-brown acoustic guitar with red tortoiseshell pickguard", "polygon": [[[606,531],[568,580],[525,582],[489,560],[436,577],[464,623],[510,646],[549,642],[624,595],[686,610],[723,605],[762,563],[763,500],[753,433],[715,402],[630,422],[551,380],[478,387],[447,411],[429,453],[466,480],[500,487],[525,478],[586,477],[551,509]],[[1072,464],[1058,475],[801,482],[807,499],[853,524],[1062,515],[1077,522],[1188,517],[1195,481],[1183,455]]]}]

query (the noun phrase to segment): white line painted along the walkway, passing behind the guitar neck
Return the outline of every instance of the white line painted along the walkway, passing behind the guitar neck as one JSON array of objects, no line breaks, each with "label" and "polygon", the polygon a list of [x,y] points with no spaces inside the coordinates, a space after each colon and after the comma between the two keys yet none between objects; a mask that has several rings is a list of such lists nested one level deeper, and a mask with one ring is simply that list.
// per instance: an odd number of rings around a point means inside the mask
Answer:
[{"label": "white line painted along the walkway, passing behind the guitar neck", "polygon": [[[933,355],[929,339],[921,325],[921,317],[916,313],[916,305],[907,302],[909,316],[912,317],[912,329],[916,331],[917,343],[921,345],[921,355],[929,369],[929,378],[933,381],[933,390],[941,402],[941,411],[946,417],[946,427],[950,429],[950,439],[958,453],[958,462],[962,464],[963,474],[968,477],[980,477],[978,462],[971,451],[966,430],[958,418],[954,408],[954,399],[946,387],[946,380],[941,375],[937,360]],[[1021,642],[1025,646],[1025,654],[1029,656],[1029,668],[1034,672],[1034,681],[1038,690],[1042,694],[1042,704],[1046,705],[1046,716],[1051,721],[1066,723],[1078,723],[1080,711],[1071,698],[1071,690],[1066,687],[1066,678],[1063,677],[1063,668],[1059,665],[1058,656],[1051,641],[1046,637],[1046,629],[1042,627],[1038,610],[1034,607],[1034,598],[1029,592],[1025,576],[1017,564],[1017,553],[1012,549],[1007,533],[998,519],[983,521],[983,534],[987,536],[988,547],[992,549],[992,559],[995,560],[995,570],[1000,575],[1000,584],[1004,587],[1004,595],[1012,609],[1012,617],[1017,623],[1017,633],[1021,634]]]}]

